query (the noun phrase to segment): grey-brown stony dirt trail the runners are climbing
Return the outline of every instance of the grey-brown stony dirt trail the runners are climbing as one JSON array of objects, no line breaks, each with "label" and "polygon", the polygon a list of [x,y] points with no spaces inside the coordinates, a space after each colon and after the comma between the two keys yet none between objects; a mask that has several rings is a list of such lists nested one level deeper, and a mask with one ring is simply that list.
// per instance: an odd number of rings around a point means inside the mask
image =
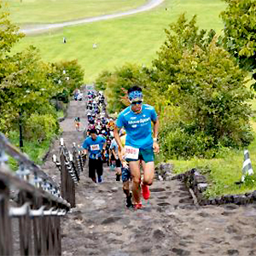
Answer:
[{"label": "grey-brown stony dirt trail the runners are climbing", "polygon": [[[82,143],[73,119],[85,125],[85,102],[71,102],[61,123],[67,148]],[[44,170],[59,180],[51,162],[58,154],[55,142]],[[51,171],[49,171],[51,169]],[[125,207],[122,183],[105,167],[103,183],[91,183],[87,168],[76,191],[77,207],[62,220],[63,255],[198,256],[256,255],[256,206],[196,207],[189,191],[177,180],[155,181],[142,210]]]}]

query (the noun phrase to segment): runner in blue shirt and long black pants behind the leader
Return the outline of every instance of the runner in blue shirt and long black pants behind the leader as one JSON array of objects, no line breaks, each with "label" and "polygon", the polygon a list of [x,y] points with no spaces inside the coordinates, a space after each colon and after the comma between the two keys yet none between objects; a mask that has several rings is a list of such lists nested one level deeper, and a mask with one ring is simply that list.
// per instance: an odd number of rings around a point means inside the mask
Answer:
[{"label": "runner in blue shirt and long black pants behind the leader", "polygon": [[89,177],[96,183],[96,172],[98,176],[98,183],[102,182],[103,162],[102,150],[106,149],[106,139],[97,136],[95,129],[90,130],[90,137],[87,137],[83,143],[85,154],[89,155]]}]

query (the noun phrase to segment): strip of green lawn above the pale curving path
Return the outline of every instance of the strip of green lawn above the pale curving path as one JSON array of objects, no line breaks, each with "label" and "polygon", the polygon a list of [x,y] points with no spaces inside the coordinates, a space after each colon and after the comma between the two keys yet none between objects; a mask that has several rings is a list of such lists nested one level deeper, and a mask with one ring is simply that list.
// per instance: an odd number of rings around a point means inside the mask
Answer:
[{"label": "strip of green lawn above the pale curving path", "polygon": [[19,24],[55,23],[134,9],[147,0],[5,0]]}]

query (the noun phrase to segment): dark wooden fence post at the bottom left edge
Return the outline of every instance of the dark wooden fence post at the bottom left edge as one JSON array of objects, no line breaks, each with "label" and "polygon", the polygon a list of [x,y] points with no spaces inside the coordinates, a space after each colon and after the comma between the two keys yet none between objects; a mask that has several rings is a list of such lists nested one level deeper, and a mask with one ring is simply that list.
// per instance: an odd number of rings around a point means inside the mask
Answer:
[{"label": "dark wooden fence post at the bottom left edge", "polygon": [[0,255],[13,255],[11,219],[9,218],[9,187],[3,180],[0,180],[0,232],[2,233]]}]

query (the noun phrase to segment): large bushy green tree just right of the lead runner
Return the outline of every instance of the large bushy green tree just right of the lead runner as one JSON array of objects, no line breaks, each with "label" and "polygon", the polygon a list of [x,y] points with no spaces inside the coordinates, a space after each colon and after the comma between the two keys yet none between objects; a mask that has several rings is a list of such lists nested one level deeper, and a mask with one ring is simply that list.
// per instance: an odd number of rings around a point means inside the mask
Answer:
[{"label": "large bushy green tree just right of the lead runner", "polygon": [[177,107],[177,119],[161,132],[166,152],[172,155],[205,155],[219,145],[243,147],[253,139],[247,72],[214,35],[199,31],[195,17],[188,21],[181,15],[166,30],[166,42],[153,61],[159,94]]}]

